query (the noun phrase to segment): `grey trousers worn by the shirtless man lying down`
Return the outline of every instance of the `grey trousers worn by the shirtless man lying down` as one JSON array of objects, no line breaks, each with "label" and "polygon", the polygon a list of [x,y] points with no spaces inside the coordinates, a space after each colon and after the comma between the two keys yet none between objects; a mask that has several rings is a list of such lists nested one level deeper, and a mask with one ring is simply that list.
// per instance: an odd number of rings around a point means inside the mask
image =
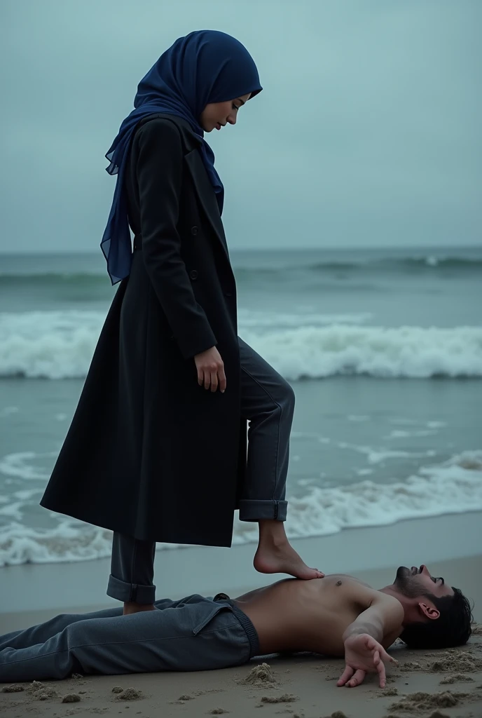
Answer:
[{"label": "grey trousers worn by the shirtless man lying down", "polygon": [[71,673],[207,671],[240,666],[259,653],[250,619],[225,594],[61,614],[0,637],[0,682],[63,679]]}]

